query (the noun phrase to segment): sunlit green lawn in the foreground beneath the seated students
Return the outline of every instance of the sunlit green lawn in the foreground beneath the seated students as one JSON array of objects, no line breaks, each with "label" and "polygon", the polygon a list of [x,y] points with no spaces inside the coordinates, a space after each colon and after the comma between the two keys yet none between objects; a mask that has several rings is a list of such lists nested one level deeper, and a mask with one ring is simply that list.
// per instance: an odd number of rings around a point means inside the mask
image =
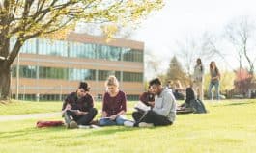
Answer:
[{"label": "sunlit green lawn in the foreground beneath the seated students", "polygon": [[206,104],[208,114],[178,115],[172,126],[146,129],[38,129],[37,119],[0,122],[0,152],[256,152],[256,100]]}]

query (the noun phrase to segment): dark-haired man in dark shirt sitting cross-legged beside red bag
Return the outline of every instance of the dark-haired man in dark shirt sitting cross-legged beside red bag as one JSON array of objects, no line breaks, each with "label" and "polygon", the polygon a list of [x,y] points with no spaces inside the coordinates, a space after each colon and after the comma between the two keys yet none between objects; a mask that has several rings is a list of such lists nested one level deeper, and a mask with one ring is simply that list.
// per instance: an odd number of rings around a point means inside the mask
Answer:
[{"label": "dark-haired man in dark shirt sitting cross-legged beside red bag", "polygon": [[67,128],[89,125],[97,115],[97,110],[94,108],[94,99],[89,94],[89,89],[86,82],[80,82],[76,92],[72,92],[65,99],[62,115],[65,118]]}]

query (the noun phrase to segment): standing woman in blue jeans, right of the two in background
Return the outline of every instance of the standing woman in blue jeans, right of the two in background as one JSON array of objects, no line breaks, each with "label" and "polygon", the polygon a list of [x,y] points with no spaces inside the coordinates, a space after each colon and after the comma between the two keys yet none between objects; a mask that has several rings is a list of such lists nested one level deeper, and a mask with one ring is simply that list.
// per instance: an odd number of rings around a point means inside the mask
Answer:
[{"label": "standing woman in blue jeans, right of the two in background", "polygon": [[215,88],[216,92],[216,99],[219,100],[219,80],[220,80],[220,73],[219,70],[215,64],[215,62],[210,63],[210,75],[211,75],[211,80],[210,80],[210,85],[209,85],[209,98],[213,100],[213,87]]}]

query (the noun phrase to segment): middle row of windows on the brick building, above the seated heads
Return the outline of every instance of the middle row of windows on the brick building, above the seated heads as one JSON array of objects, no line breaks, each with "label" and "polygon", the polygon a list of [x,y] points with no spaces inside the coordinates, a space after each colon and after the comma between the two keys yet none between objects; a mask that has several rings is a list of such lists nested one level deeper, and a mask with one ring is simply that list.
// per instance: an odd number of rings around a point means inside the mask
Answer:
[{"label": "middle row of windows on the brick building, above the seated heads", "polygon": [[[40,79],[62,79],[71,81],[96,80],[96,71],[94,69],[76,69],[76,68],[57,68],[57,67],[39,67]],[[98,79],[106,80],[110,75],[115,75],[119,81],[121,80],[121,71],[99,70]],[[12,67],[12,76],[16,77],[16,66]],[[19,77],[36,78],[37,67],[30,65],[19,66]],[[123,72],[124,82],[142,82],[143,73]]]}]

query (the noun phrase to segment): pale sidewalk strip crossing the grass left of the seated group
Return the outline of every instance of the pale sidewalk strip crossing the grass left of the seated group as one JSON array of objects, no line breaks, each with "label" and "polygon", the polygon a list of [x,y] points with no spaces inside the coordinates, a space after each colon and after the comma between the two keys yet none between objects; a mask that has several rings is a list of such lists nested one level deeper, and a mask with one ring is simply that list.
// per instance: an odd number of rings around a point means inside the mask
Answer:
[{"label": "pale sidewalk strip crossing the grass left of the seated group", "polygon": [[2,115],[0,116],[0,122],[11,121],[11,120],[33,119],[33,118],[38,118],[38,120],[41,120],[45,117],[54,117],[54,116],[61,117],[61,113],[55,112],[55,113],[41,113],[41,114],[28,114],[28,115]]}]

